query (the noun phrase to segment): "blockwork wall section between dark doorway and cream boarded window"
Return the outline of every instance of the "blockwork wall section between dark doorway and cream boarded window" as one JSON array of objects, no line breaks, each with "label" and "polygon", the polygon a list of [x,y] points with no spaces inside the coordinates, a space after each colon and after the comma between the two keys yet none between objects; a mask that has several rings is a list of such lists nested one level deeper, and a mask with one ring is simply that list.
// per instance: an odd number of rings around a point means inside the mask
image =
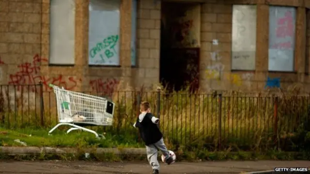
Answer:
[{"label": "blockwork wall section between dark doorway and cream boarded window", "polygon": [[201,18],[201,87],[223,90],[231,68],[232,5],[204,3]]}]

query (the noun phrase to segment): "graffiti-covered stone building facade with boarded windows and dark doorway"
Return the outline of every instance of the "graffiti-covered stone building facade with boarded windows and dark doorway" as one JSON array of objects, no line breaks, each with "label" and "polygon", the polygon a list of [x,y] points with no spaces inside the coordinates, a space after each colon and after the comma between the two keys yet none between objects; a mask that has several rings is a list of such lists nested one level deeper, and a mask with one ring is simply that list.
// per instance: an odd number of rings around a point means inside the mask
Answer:
[{"label": "graffiti-covered stone building facade with boarded windows and dark doorway", "polygon": [[0,83],[309,91],[310,0],[0,0]]}]

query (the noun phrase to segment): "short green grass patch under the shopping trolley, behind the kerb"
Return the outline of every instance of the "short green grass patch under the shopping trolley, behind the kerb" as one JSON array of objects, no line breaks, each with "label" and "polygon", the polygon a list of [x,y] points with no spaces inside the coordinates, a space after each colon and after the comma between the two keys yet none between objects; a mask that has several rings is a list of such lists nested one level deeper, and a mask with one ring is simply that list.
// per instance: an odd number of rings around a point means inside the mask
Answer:
[{"label": "short green grass patch under the shopping trolley, behind the kerb", "polygon": [[106,140],[97,139],[88,132],[75,130],[66,134],[63,130],[55,130],[52,135],[48,135],[49,129],[44,128],[23,128],[8,130],[0,128],[0,146],[23,146],[21,142],[26,142],[27,146],[37,147],[144,147],[142,143],[137,143],[132,137],[122,135],[115,136],[106,134]]}]

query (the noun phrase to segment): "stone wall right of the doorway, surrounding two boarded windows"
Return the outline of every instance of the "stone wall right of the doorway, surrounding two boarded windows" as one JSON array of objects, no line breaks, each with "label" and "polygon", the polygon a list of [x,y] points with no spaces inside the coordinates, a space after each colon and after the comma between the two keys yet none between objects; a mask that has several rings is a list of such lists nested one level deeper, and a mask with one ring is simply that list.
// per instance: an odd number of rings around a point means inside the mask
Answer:
[{"label": "stone wall right of the doorway, surrounding two boarded windows", "polygon": [[[308,2],[305,1],[305,2]],[[269,0],[270,5],[287,4],[295,6],[296,30],[294,50],[294,72],[268,72],[268,21],[269,5],[264,0],[237,0],[235,3],[257,5],[257,42],[255,71],[231,70],[231,33],[232,4],[231,2],[208,1],[202,4],[201,31],[201,87],[204,90],[243,90],[262,91],[267,78],[280,78],[281,88],[292,89],[297,86],[309,91],[309,76],[305,75],[305,4],[302,1]],[[309,3],[309,2],[308,2]],[[308,7],[308,6],[307,6]],[[308,37],[309,38],[309,37]],[[212,39],[218,40],[218,45],[212,44]],[[309,51],[307,51],[309,52]],[[307,56],[309,59],[309,55]],[[203,68],[204,67],[204,68]],[[206,71],[207,69],[207,71]],[[208,70],[209,69],[209,70]],[[211,70],[210,70],[211,69]],[[212,70],[216,69],[216,70]],[[218,73],[218,69],[220,72]],[[309,65],[306,67],[309,69]]]}]

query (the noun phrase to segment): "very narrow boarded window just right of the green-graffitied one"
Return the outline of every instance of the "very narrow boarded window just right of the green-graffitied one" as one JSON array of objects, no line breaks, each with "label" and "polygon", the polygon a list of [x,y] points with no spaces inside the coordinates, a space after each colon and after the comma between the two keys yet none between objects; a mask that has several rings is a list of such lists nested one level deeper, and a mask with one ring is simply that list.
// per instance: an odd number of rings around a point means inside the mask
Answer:
[{"label": "very narrow boarded window just right of the green-graffitied one", "polygon": [[131,65],[136,66],[137,0],[132,0],[131,13]]}]

